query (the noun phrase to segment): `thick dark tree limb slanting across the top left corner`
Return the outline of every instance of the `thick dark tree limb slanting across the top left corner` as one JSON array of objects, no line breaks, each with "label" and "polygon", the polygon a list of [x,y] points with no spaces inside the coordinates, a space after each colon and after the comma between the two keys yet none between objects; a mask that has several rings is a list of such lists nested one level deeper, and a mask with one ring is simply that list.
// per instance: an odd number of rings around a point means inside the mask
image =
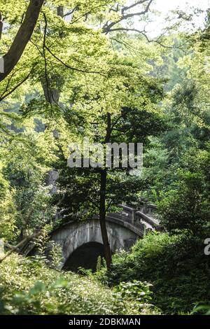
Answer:
[{"label": "thick dark tree limb slanting across the top left corner", "polygon": [[3,56],[4,59],[4,73],[0,73],[0,81],[2,81],[14,69],[18,63],[22,53],[24,52],[31,35],[34,32],[34,27],[38,20],[38,15],[43,6],[44,0],[31,0],[27,8],[25,19],[16,34],[10,49]]}]

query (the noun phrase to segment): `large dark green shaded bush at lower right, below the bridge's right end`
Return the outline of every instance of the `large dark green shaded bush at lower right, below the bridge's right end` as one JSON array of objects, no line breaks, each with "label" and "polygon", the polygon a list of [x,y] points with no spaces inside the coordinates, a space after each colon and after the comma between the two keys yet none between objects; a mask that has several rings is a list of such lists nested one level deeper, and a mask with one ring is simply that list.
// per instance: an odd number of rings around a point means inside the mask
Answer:
[{"label": "large dark green shaded bush at lower right, below the bridge's right end", "polygon": [[204,244],[188,232],[170,236],[150,233],[137,241],[131,253],[113,258],[113,269],[104,272],[109,286],[141,280],[153,284],[152,303],[164,314],[188,314],[199,304],[209,304],[210,260]]}]

